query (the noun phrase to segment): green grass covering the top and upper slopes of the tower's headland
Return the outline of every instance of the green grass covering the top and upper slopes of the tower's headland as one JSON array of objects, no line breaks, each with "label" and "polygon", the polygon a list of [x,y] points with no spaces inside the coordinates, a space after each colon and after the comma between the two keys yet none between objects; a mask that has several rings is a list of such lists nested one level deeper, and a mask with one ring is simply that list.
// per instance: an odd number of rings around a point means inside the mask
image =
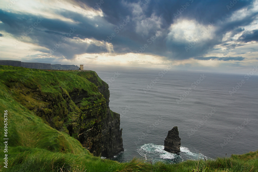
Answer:
[{"label": "green grass covering the top and upper slopes of the tower's headland", "polygon": [[[99,92],[103,86],[108,87],[94,71],[49,71],[0,65],[1,103],[5,104],[8,99],[19,102],[18,106],[33,111],[45,124],[67,134],[67,126],[78,119],[82,110],[98,108],[100,113],[104,112],[97,107],[106,104]],[[76,101],[68,99],[70,93],[74,93],[71,98],[79,94],[85,98],[76,105]]]}]

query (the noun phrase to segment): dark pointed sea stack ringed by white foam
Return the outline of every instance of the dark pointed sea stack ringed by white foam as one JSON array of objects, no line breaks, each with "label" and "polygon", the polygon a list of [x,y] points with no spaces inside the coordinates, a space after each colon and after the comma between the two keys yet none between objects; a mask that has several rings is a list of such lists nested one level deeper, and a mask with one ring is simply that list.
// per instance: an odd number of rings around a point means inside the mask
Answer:
[{"label": "dark pointed sea stack ringed by white foam", "polygon": [[164,140],[164,150],[170,153],[179,153],[181,146],[181,138],[179,137],[178,127],[173,127],[168,131]]}]

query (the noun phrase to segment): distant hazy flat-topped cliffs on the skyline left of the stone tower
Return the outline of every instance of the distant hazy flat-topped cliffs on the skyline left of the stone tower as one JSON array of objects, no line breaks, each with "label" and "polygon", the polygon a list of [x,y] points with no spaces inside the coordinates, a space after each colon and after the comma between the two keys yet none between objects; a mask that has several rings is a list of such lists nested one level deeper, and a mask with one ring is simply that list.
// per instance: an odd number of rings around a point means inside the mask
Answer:
[{"label": "distant hazy flat-topped cliffs on the skyline left of the stone tower", "polygon": [[30,69],[63,69],[63,70],[78,70],[77,65],[61,65],[61,64],[50,64],[50,63],[27,63],[15,60],[0,60],[0,65],[9,65],[24,67]]}]

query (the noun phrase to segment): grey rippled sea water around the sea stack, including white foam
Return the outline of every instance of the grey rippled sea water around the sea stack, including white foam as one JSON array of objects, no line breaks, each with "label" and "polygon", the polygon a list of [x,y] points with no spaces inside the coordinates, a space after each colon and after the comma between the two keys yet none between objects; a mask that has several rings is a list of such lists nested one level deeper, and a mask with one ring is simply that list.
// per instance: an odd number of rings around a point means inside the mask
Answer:
[{"label": "grey rippled sea water around the sea stack, including white foam", "polygon": [[[143,157],[174,163],[258,149],[255,75],[247,80],[224,73],[165,70],[162,76],[162,70],[93,70],[109,84],[110,109],[120,113],[125,151],[119,161]],[[181,138],[179,155],[163,151],[174,126]]]}]

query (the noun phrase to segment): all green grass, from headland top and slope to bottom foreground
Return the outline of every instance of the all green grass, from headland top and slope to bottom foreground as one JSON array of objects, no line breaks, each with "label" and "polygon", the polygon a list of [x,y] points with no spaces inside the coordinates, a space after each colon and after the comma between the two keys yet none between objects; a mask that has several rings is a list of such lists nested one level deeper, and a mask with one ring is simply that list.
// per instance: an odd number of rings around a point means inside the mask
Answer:
[{"label": "all green grass, from headland top and slope to bottom foreground", "polygon": [[[55,129],[65,128],[66,124],[71,124],[78,117],[80,109],[75,103],[70,102],[67,105],[57,101],[58,106],[52,107],[52,110],[43,108],[45,114],[54,116],[54,126],[47,122],[46,117],[36,115],[35,108],[46,107],[49,104],[39,98],[48,96],[58,100],[74,89],[87,91],[85,94],[88,97],[80,104],[82,107],[98,107],[98,104],[106,101],[98,91],[100,87],[108,86],[94,71],[44,71],[0,66],[0,114],[2,116],[4,110],[8,110],[9,138],[6,169],[3,163],[6,154],[3,150],[4,122],[1,117],[0,171],[258,171],[258,151],[216,160],[187,160],[178,164],[148,163],[138,158],[124,163],[101,159],[83,148],[65,129]],[[109,92],[103,94],[108,95]],[[66,108],[72,109],[72,112],[65,111]],[[56,112],[53,112],[53,109]],[[117,113],[110,112],[112,118],[117,117]]]}]

